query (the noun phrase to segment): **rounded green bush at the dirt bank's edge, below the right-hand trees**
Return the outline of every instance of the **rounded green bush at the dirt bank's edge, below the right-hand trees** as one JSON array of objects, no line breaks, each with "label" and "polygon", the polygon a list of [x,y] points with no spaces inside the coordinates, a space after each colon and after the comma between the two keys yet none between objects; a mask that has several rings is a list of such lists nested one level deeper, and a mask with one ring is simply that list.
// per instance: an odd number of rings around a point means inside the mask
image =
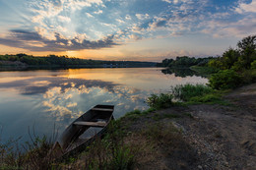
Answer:
[{"label": "rounded green bush at the dirt bank's edge, below the right-hand trees", "polygon": [[219,71],[211,76],[209,82],[215,89],[229,89],[242,85],[241,77],[233,70]]}]

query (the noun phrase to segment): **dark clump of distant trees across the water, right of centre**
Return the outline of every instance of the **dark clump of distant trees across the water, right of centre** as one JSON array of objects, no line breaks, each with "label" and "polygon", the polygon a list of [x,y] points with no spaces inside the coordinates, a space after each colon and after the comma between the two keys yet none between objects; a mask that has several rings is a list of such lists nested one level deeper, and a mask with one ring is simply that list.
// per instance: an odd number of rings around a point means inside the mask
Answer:
[{"label": "dark clump of distant trees across the water, right of centre", "polygon": [[164,59],[157,66],[159,67],[191,67],[191,66],[206,66],[210,60],[214,59],[214,57],[206,57],[206,58],[195,58],[188,56],[177,56],[176,59]]}]

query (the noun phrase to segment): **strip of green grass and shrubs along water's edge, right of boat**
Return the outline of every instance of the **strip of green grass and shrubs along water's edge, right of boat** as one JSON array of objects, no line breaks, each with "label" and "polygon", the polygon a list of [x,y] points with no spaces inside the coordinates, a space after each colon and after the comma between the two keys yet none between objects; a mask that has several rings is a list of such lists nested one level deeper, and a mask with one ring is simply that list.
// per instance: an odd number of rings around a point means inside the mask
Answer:
[{"label": "strip of green grass and shrubs along water's edge, right of boat", "polygon": [[[131,120],[136,120],[142,115],[147,115],[150,112],[169,108],[171,106],[183,106],[188,104],[221,104],[229,105],[223,99],[225,90],[216,90],[208,85],[176,85],[171,87],[171,93],[152,94],[146,100],[147,104],[151,107],[146,111],[135,110],[126,114]],[[173,101],[173,98],[176,101]],[[154,119],[158,120],[158,116]]]}]

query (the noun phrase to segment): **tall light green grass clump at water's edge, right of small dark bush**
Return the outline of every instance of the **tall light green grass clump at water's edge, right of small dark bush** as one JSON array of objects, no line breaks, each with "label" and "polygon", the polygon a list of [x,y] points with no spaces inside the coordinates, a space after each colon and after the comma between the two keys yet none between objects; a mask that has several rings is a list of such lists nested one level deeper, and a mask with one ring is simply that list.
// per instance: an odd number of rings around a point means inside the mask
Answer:
[{"label": "tall light green grass clump at water's edge, right of small dark bush", "polygon": [[214,89],[207,85],[176,85],[171,88],[171,92],[176,99],[190,101],[193,97],[200,97],[214,92]]}]

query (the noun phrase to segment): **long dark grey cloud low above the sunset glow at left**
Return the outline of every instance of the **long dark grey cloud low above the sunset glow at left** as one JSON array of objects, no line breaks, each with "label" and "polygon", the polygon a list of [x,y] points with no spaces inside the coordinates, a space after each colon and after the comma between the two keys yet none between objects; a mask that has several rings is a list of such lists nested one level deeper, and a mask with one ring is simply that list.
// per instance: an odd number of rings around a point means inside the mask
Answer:
[{"label": "long dark grey cloud low above the sunset glow at left", "polygon": [[113,42],[112,36],[96,41],[89,41],[85,38],[84,34],[78,34],[72,39],[67,39],[58,32],[54,32],[50,36],[45,36],[42,30],[32,32],[15,29],[11,32],[10,36],[0,38],[0,44],[30,49],[32,51],[98,49],[116,45],[116,43]]}]

